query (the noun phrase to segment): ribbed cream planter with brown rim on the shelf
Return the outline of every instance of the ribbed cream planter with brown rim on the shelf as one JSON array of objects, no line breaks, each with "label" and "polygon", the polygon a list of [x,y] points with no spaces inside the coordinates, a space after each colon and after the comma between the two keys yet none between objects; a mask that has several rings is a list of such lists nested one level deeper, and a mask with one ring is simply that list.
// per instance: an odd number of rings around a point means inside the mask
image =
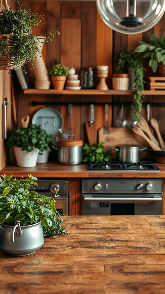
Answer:
[{"label": "ribbed cream planter with brown rim on the shelf", "polygon": [[129,89],[129,74],[113,74],[112,88],[114,90],[128,90]]}]

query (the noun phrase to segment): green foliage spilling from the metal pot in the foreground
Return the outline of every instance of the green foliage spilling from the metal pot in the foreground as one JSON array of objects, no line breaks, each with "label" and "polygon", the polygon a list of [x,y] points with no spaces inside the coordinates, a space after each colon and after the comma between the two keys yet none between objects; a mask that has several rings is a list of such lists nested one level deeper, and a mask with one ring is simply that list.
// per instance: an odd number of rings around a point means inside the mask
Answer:
[{"label": "green foliage spilling from the metal pot in the foreground", "polygon": [[41,220],[44,237],[56,238],[57,234],[68,234],[61,225],[65,220],[55,207],[58,190],[55,189],[55,197],[51,200],[48,196],[30,190],[30,186],[38,186],[38,179],[30,174],[28,178],[20,180],[6,175],[1,177],[3,181],[0,182],[0,223],[15,225],[15,220],[20,220],[24,226]]}]

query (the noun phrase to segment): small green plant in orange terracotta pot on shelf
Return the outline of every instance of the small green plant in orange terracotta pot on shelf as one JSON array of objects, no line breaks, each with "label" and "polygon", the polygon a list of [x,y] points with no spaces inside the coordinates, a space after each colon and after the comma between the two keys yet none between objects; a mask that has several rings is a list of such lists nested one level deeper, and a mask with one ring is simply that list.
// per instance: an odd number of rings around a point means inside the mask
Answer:
[{"label": "small green plant in orange terracotta pot on shelf", "polygon": [[66,77],[68,76],[69,67],[61,64],[53,64],[52,69],[49,70],[49,75],[53,83],[53,88],[56,90],[63,90]]}]

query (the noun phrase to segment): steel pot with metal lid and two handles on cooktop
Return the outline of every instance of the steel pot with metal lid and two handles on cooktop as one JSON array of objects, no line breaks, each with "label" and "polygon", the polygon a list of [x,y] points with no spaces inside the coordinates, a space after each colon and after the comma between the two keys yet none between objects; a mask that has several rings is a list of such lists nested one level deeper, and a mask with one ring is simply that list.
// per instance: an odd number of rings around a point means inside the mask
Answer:
[{"label": "steel pot with metal lid and two handles on cooktop", "polygon": [[111,147],[111,149],[116,150],[116,158],[121,162],[139,162],[141,158],[141,151],[147,149],[147,147],[141,148],[140,145],[128,142],[132,141],[126,141],[125,144],[117,145],[116,148]]}]

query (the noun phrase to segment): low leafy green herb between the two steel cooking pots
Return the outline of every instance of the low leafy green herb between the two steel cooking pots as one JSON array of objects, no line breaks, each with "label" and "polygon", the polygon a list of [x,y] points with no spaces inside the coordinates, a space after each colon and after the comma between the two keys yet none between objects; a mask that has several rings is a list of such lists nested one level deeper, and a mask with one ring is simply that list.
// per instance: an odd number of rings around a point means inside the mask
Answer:
[{"label": "low leafy green herb between the two steel cooking pots", "polygon": [[93,144],[91,147],[88,143],[83,146],[83,161],[84,162],[102,162],[111,161],[111,152],[104,148],[104,143]]}]

